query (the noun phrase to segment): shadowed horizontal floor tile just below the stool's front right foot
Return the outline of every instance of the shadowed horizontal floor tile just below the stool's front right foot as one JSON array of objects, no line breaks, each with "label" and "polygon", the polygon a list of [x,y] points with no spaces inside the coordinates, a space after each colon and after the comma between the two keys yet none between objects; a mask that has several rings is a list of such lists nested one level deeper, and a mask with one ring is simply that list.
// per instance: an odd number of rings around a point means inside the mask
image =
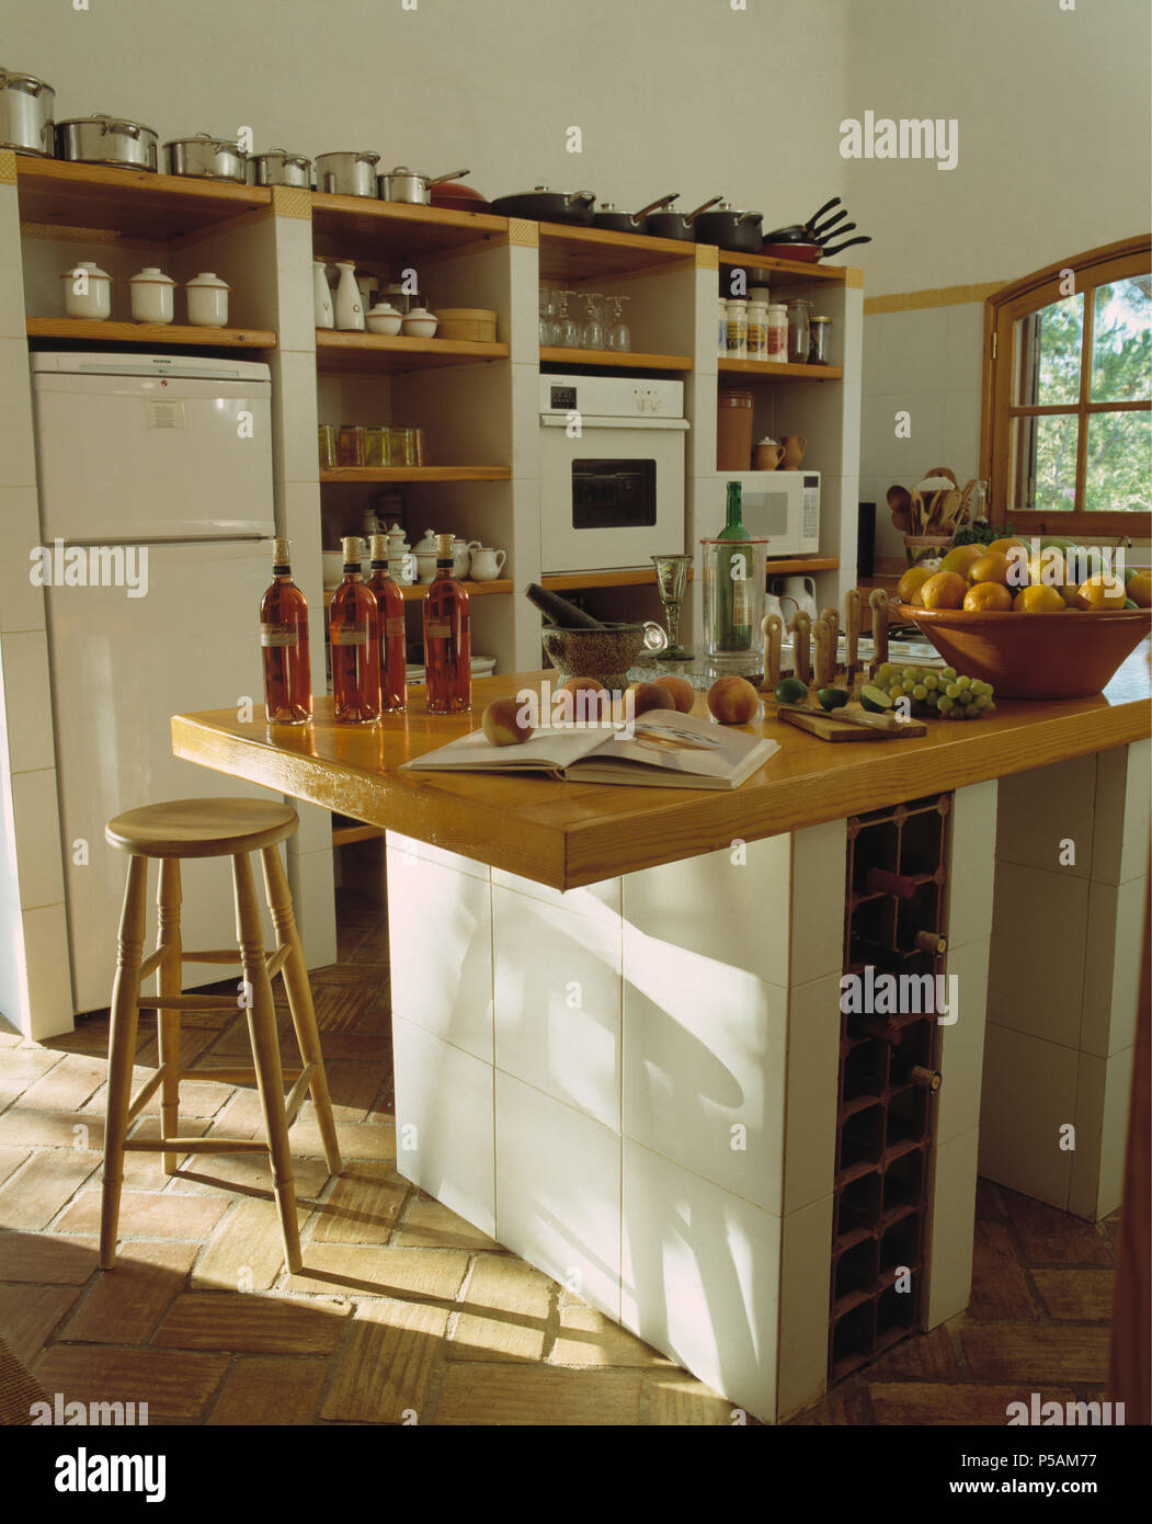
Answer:
[{"label": "shadowed horizontal floor tile just below the stool's front right foot", "polygon": [[331,1355],[350,1303],[288,1301],[258,1292],[187,1291],[152,1335],[169,1349],[251,1355]]}]

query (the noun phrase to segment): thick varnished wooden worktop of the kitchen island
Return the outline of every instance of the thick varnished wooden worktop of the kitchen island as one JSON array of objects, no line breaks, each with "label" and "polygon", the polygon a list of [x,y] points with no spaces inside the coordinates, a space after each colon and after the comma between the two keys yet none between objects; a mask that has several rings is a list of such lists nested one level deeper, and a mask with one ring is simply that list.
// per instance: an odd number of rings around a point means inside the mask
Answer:
[{"label": "thick varnished wooden worktop of the kitchen island", "polygon": [[[332,721],[317,700],[311,725],[242,724],[235,709],[172,718],[177,756],[293,799],[386,826],[480,863],[576,888],[901,800],[1106,751],[1152,730],[1146,645],[1096,698],[997,703],[975,722],[931,721],[926,736],[829,745],[774,718],[780,751],[738,789],[619,788],[526,774],[398,773],[401,762],[474,728],[492,698],[538,687],[529,672],[472,684],[472,713],[407,715],[379,725]],[[702,713],[702,695],[696,701]],[[773,706],[770,704],[770,716]]]}]

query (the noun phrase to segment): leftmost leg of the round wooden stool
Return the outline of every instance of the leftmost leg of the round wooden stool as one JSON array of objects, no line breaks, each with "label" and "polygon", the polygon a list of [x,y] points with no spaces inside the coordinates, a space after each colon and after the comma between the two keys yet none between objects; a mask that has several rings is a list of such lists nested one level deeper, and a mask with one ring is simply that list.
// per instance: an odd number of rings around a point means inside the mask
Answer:
[{"label": "leftmost leg of the round wooden stool", "polygon": [[120,1221],[120,1187],[123,1186],[123,1140],[128,1132],[128,1108],[133,1099],[133,1059],[136,1058],[136,1029],[140,1017],[137,1000],[140,998],[140,952],[143,949],[146,895],[148,858],[133,856],[128,860],[128,882],[120,911],[108,1033],[101,1269],[111,1269],[116,1263],[116,1225]]}]

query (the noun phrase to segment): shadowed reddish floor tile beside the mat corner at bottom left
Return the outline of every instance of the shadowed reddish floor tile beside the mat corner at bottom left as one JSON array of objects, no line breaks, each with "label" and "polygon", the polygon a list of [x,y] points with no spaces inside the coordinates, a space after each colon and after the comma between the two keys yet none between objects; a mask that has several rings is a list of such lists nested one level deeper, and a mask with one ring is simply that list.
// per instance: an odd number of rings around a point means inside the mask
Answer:
[{"label": "shadowed reddish floor tile beside the mat corner at bottom left", "polygon": [[66,1402],[146,1402],[155,1417],[198,1419],[229,1369],[227,1355],[181,1355],[163,1349],[55,1344],[34,1375]]}]

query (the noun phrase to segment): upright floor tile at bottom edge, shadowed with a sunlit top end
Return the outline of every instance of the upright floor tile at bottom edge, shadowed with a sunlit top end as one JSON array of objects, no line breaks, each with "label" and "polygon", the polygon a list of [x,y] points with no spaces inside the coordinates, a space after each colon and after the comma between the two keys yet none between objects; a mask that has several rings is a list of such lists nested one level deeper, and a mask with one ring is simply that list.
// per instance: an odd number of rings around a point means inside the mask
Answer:
[{"label": "upright floor tile at bottom edge, shadowed with a sunlit top end", "polygon": [[[430,1422],[427,1396],[442,1359],[445,1308],[379,1298],[357,1308],[332,1384],[320,1408],[325,1419],[352,1423]],[[437,1420],[439,1422],[439,1420]]]}]

